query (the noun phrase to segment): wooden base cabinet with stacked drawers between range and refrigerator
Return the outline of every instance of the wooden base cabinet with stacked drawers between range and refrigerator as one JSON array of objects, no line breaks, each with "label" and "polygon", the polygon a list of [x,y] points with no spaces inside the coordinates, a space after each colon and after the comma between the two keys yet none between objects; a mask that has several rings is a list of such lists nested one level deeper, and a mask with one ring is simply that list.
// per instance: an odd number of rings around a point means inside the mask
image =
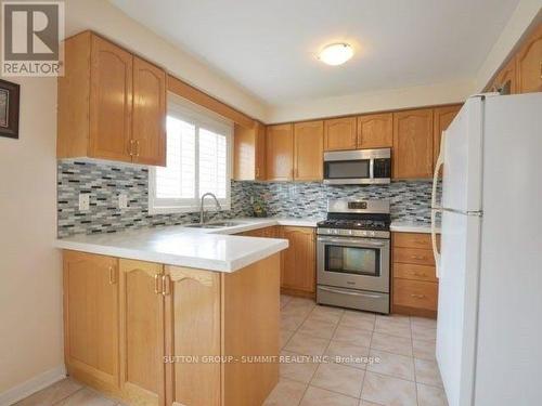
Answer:
[{"label": "wooden base cabinet with stacked drawers between range and refrigerator", "polygon": [[438,279],[431,237],[421,233],[392,233],[392,312],[436,317]]}]

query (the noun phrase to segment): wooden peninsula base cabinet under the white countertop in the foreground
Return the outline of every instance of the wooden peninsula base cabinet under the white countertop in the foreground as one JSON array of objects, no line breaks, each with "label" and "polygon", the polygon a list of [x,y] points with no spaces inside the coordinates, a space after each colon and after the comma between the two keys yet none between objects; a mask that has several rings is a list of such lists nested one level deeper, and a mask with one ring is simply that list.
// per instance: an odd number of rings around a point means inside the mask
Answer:
[{"label": "wooden peninsula base cabinet under the white countertop in the foreground", "polygon": [[261,405],[279,364],[241,357],[279,355],[280,265],[280,253],[218,273],[64,251],[68,374],[129,405]]}]

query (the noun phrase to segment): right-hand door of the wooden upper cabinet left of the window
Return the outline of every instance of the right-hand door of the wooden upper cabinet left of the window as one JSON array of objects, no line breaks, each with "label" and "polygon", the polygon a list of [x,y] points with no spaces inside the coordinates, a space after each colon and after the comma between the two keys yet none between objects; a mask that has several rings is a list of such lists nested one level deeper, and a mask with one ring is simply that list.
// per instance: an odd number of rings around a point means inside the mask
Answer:
[{"label": "right-hand door of the wooden upper cabinet left of the window", "polygon": [[166,73],[133,58],[133,161],[166,166]]}]

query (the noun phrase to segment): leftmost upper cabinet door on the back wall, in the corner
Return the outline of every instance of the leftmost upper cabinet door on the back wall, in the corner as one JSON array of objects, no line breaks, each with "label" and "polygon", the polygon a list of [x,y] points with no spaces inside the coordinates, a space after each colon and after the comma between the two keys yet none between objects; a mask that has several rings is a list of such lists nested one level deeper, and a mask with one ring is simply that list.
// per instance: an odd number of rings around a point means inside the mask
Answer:
[{"label": "leftmost upper cabinet door on the back wall, in the corner", "polygon": [[294,172],[294,131],[292,125],[269,126],[267,141],[267,178],[291,181]]}]

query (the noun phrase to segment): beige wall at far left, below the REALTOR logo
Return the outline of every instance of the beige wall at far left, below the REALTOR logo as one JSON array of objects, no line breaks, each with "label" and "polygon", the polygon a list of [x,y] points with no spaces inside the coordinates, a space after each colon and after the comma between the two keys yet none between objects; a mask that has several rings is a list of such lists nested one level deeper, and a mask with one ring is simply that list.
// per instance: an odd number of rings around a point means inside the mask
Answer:
[{"label": "beige wall at far left, below the REALTOR logo", "polygon": [[0,404],[63,370],[56,79],[3,79],[21,84],[21,117],[20,139],[0,137]]}]

